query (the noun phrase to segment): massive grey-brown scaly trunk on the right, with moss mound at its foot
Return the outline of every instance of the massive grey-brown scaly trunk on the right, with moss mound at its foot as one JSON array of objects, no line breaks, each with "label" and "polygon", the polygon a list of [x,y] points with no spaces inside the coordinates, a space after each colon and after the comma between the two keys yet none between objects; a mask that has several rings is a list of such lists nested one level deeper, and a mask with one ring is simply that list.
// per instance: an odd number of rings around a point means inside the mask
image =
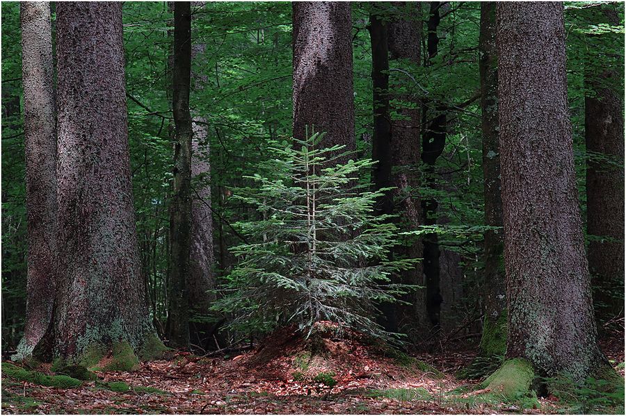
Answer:
[{"label": "massive grey-brown scaly trunk on the right, with moss mound at its foot", "polygon": [[563,3],[497,3],[508,358],[591,376],[597,347],[565,77]]}]

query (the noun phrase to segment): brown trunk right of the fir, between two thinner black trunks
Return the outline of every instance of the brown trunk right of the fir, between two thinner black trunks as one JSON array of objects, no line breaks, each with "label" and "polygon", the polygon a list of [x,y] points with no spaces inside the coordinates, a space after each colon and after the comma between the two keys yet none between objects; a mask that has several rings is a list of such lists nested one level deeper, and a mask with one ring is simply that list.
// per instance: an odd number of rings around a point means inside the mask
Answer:
[{"label": "brown trunk right of the fir, between two thinner black trunks", "polygon": [[[422,4],[396,1],[392,3],[399,15],[389,25],[389,52],[392,69],[405,67],[403,63],[421,65],[422,44]],[[391,140],[390,140],[390,186],[393,191],[394,211],[401,213],[402,228],[415,230],[422,224],[422,206],[417,198],[417,165],[420,160],[421,109],[415,82],[403,72],[392,72],[392,91],[401,89],[406,93],[392,95]],[[412,242],[397,249],[406,258],[422,258],[422,242]],[[402,272],[402,281],[422,288],[409,295],[405,301],[411,306],[399,306],[399,327],[412,335],[422,338],[428,331],[426,316],[426,290],[422,264]]]}]

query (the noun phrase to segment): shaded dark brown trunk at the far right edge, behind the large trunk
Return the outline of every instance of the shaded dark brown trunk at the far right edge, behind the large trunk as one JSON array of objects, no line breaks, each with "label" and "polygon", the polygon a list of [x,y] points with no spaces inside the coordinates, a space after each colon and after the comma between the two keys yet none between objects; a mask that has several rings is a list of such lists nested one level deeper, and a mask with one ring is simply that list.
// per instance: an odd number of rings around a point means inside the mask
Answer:
[{"label": "shaded dark brown trunk at the far right edge, behind the large trunk", "polygon": [[590,74],[586,81],[595,93],[585,99],[586,147],[593,152],[587,158],[587,258],[596,312],[607,320],[624,313],[624,102],[602,85],[606,79]]}]

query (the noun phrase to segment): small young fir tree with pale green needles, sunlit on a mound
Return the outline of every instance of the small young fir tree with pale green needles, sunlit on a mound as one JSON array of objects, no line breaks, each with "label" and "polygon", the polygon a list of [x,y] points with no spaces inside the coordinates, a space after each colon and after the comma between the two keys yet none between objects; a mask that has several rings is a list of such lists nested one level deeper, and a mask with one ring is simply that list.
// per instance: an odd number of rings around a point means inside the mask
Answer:
[{"label": "small young fir tree with pale green needles, sunlit on a mound", "polygon": [[390,275],[414,260],[389,259],[396,226],[373,210],[387,189],[369,192],[355,180],[375,162],[334,165],[349,152],[316,149],[322,139],[314,133],[273,148],[273,178],[248,176],[258,186],[234,192],[259,219],[237,224],[248,242],[233,249],[240,260],[227,278],[232,294],[217,307],[233,313],[240,328],[297,324],[310,333],[315,322],[330,320],[388,338],[375,305],[406,293],[410,287],[391,283]]}]

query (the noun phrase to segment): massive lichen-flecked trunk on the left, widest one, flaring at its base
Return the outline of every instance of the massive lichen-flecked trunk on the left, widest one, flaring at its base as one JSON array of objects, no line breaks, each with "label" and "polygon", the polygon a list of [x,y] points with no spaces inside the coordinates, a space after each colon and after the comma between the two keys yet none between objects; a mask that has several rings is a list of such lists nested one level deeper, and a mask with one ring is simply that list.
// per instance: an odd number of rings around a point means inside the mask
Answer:
[{"label": "massive lichen-flecked trunk on the left, widest one, flaring at its base", "polygon": [[131,188],[121,3],[58,3],[56,350],[138,349],[148,315]]}]

